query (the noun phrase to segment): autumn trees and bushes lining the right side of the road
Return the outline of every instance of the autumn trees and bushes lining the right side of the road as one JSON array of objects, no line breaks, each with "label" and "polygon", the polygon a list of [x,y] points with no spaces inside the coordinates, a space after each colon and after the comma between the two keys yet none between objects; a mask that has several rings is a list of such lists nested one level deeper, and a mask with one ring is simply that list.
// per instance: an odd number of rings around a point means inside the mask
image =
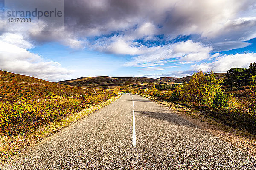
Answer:
[{"label": "autumn trees and bushes lining the right side of the road", "polygon": [[[229,91],[230,88],[233,91]],[[247,89],[248,93],[239,100],[232,92],[241,88]],[[231,68],[225,80],[217,79],[213,73],[198,71],[188,83],[176,85],[174,90],[162,92],[152,86],[139,93],[180,108],[192,109],[198,116],[208,117],[215,122],[256,133],[255,62],[248,69]]]}]

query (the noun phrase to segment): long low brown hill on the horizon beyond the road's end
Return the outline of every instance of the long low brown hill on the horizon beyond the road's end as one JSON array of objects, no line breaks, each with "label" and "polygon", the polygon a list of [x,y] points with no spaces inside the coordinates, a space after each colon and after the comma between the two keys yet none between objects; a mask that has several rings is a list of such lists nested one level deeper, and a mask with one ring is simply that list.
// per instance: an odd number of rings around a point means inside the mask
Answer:
[{"label": "long low brown hill on the horizon beyond the road's end", "polygon": [[172,82],[165,82],[160,79],[152,79],[146,77],[81,77],[78,79],[71,79],[67,81],[58,82],[60,84],[72,86],[90,86],[90,87],[111,87],[111,86],[127,86],[140,84],[172,84]]}]

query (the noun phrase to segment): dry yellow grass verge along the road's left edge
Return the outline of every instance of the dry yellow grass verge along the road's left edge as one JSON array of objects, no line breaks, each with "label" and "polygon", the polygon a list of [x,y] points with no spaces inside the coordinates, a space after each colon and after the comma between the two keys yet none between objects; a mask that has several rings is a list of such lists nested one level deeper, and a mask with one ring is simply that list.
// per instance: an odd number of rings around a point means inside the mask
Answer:
[{"label": "dry yellow grass verge along the road's left edge", "polygon": [[[98,95],[98,96],[97,96]],[[101,97],[100,97],[101,96]],[[0,162],[3,162],[4,160],[19,154],[21,150],[26,149],[26,147],[33,146],[36,142],[44,139],[45,137],[63,129],[64,127],[76,122],[77,120],[83,118],[84,116],[87,116],[94,111],[110,104],[114,100],[118,99],[121,95],[116,94],[93,94],[90,97],[86,97],[83,99],[73,99],[72,103],[79,102],[80,100],[81,106],[79,108],[82,108],[80,111],[76,111],[76,109],[69,110],[70,112],[65,116],[57,116],[56,119],[52,122],[48,122],[42,126],[32,126],[26,129],[23,133],[12,133],[15,134],[13,136],[10,135],[9,132],[11,126],[6,126],[7,130],[1,131],[1,138],[0,138]],[[62,101],[64,103],[70,101]],[[63,105],[63,103],[62,103]],[[66,105],[66,104],[65,104]],[[66,111],[67,108],[66,108]],[[61,111],[61,113],[64,111]],[[28,122],[26,122],[29,126]],[[32,125],[35,124],[35,122],[30,122]],[[18,124],[17,124],[18,125]],[[18,128],[17,125],[15,128]],[[20,124],[21,125],[21,124]],[[24,125],[23,127],[26,127]],[[23,127],[20,127],[23,129]],[[4,129],[4,128],[3,128]],[[28,131],[31,130],[31,131]]]}]

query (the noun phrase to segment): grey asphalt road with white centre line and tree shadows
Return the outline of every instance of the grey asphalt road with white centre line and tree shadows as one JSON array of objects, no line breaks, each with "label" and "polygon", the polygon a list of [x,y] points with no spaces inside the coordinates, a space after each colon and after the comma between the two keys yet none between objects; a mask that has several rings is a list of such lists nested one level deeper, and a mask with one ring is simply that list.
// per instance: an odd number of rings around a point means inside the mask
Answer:
[{"label": "grey asphalt road with white centre line and tree shadows", "polygon": [[0,169],[253,170],[256,159],[164,106],[123,94]]}]

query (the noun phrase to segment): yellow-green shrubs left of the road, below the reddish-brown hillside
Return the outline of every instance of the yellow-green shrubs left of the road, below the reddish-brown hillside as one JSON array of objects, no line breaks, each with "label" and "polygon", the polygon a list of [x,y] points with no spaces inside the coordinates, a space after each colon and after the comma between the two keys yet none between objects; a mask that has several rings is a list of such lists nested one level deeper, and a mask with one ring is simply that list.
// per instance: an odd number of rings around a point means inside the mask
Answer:
[{"label": "yellow-green shrubs left of the road, below the reddish-brown hillside", "polygon": [[22,98],[0,103],[0,135],[18,136],[31,133],[51,122],[58,122],[77,111],[99,105],[117,96],[113,92],[99,92],[71,99],[31,102]]}]

